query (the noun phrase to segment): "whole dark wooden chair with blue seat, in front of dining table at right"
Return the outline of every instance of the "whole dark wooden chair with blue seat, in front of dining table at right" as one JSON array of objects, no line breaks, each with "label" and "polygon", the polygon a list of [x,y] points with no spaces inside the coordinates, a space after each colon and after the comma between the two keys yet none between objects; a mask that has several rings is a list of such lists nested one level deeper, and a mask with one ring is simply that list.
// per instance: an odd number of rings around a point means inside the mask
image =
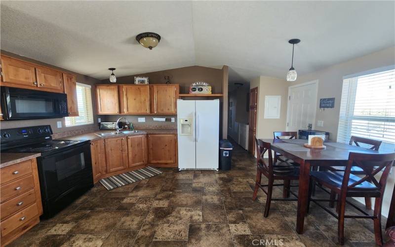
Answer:
[{"label": "whole dark wooden chair with blue seat, in front of dining table at right", "polygon": [[[332,171],[311,171],[310,172],[310,189],[309,189],[309,206],[310,202],[322,207],[329,214],[338,219],[338,237],[339,244],[344,244],[344,219],[345,218],[369,218],[373,219],[374,235],[376,244],[383,244],[381,232],[381,207],[383,203],[384,191],[386,188],[387,178],[394,163],[395,153],[390,154],[363,154],[350,153],[349,161],[345,168],[344,174]],[[362,176],[356,176],[352,173],[353,166],[361,168]],[[380,172],[381,171],[381,175]],[[380,176],[377,180],[376,177]],[[323,187],[330,189],[339,195],[337,202],[337,215],[331,210],[325,208],[318,202],[327,202],[330,200],[312,198],[311,188],[314,182],[319,182]],[[329,193],[329,191],[325,190]],[[373,197],[375,198],[373,215],[368,214],[355,204],[347,201],[348,197]],[[346,215],[346,203],[355,207],[363,215]]]}]

